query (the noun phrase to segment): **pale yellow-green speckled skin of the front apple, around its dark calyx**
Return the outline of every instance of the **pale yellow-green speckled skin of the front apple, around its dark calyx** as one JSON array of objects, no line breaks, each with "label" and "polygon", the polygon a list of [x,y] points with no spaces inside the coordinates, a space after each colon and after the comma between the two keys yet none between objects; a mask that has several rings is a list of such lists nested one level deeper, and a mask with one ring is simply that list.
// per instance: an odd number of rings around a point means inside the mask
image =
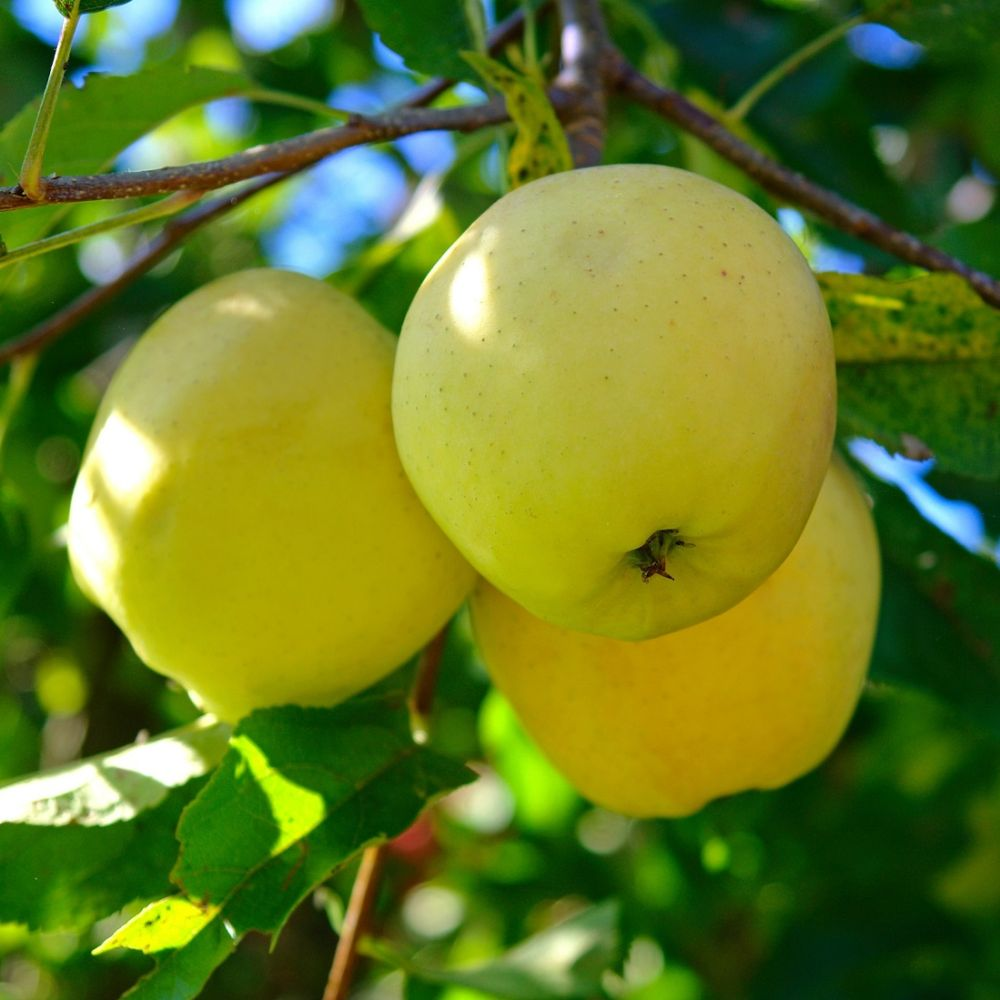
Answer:
[{"label": "pale yellow-green speckled skin of the front apple, around its dark calyx", "polygon": [[[472,565],[548,621],[623,639],[718,614],[779,565],[835,409],[798,249],[742,195],[660,166],[494,204],[414,298],[393,382],[403,466]],[[630,553],[671,530],[674,579],[644,579]]]}]

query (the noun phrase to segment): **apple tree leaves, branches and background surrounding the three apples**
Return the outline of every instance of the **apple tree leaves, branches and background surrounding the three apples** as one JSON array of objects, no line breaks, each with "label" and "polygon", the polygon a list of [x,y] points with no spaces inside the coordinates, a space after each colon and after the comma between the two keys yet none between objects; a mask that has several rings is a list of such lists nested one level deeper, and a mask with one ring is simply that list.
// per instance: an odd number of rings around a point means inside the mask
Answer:
[{"label": "apple tree leaves, branches and background surrounding the three apples", "polygon": [[[0,81],[0,998],[998,995],[998,0],[13,0]],[[398,333],[506,192],[611,163],[739,192],[816,274],[882,561],[837,748],[616,813],[464,607],[339,704],[201,714],[67,558],[143,331],[271,267]]]}]

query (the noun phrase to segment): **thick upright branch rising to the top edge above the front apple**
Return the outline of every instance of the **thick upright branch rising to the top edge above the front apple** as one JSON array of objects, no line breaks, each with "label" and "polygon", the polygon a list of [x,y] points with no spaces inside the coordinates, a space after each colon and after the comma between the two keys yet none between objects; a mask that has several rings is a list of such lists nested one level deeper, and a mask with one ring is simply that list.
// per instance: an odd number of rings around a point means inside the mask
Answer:
[{"label": "thick upright branch rising to the top edge above the front apple", "polygon": [[562,69],[557,85],[571,98],[566,138],[578,167],[601,162],[604,151],[605,102],[603,54],[607,32],[597,0],[559,0],[562,20]]}]

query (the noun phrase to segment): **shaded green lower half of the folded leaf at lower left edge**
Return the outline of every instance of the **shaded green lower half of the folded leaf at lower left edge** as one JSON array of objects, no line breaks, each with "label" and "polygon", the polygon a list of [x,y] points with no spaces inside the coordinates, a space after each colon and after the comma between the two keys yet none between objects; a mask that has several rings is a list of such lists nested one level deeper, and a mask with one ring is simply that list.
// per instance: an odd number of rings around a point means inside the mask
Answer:
[{"label": "shaded green lower half of the folded leaf at lower left edge", "polygon": [[203,778],[168,791],[159,805],[110,826],[0,824],[0,923],[84,930],[137,900],[173,890],[174,831]]}]

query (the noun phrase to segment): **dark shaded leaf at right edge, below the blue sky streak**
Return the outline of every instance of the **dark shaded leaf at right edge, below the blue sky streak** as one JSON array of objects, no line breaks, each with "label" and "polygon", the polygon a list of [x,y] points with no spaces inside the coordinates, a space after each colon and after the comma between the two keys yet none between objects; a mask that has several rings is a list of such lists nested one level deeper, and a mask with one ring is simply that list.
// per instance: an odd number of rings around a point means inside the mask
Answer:
[{"label": "dark shaded leaf at right edge, below the blue sky streak", "polygon": [[872,677],[933,695],[1000,735],[1000,568],[871,481],[883,605]]}]

